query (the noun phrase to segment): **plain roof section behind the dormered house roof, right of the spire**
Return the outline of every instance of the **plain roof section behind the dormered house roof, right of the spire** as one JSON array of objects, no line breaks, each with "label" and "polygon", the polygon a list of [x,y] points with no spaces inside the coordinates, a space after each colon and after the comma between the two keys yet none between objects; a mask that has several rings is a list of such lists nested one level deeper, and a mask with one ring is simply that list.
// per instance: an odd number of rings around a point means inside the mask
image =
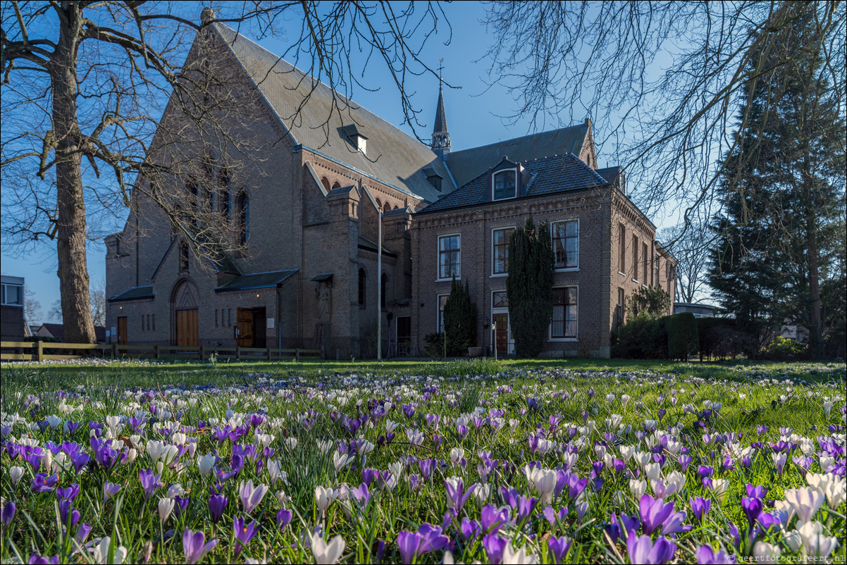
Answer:
[{"label": "plain roof section behind the dormered house roof, right of the spire", "polygon": [[516,163],[564,153],[579,155],[587,133],[586,120],[561,130],[544,131],[483,147],[454,151],[447,155],[447,166],[453,174],[453,180],[456,180],[456,186],[462,186],[493,164],[499,163],[504,155]]}]

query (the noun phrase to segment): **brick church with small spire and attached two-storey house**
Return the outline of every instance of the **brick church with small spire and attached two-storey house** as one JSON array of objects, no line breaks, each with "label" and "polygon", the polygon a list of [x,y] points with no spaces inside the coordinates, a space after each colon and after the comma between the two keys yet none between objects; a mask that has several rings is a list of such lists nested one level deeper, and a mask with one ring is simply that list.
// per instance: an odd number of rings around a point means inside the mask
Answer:
[{"label": "brick church with small spire and attached two-storey house", "polygon": [[113,342],[417,356],[443,329],[456,277],[476,303],[477,344],[508,354],[508,240],[530,216],[548,222],[556,255],[545,355],[609,357],[627,296],[642,285],[673,296],[673,258],[623,170],[597,168],[590,119],[453,151],[442,91],[427,146],[225,25],[209,25],[191,58],[240,77],[251,109],[238,127],[260,158],[236,179],[208,152],[202,178],[170,188],[235,230],[241,251],[198,258],[143,196],[152,187],[135,191],[124,230],[106,238]]}]

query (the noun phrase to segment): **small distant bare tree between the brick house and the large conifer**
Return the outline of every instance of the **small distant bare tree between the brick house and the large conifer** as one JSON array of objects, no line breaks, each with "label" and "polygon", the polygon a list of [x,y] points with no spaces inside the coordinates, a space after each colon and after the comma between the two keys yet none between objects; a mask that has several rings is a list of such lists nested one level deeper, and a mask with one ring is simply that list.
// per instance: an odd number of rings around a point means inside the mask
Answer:
[{"label": "small distant bare tree between the brick house and the large conifer", "polygon": [[660,231],[670,241],[668,251],[677,260],[676,302],[696,302],[708,290],[709,252],[715,235],[700,222],[678,224]]}]

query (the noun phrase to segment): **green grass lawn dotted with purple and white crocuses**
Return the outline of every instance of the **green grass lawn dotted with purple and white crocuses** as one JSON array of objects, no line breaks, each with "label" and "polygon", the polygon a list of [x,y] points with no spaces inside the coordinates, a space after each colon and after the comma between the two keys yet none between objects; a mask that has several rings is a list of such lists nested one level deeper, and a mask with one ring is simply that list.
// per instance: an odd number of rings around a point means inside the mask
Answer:
[{"label": "green grass lawn dotted with purple and white crocuses", "polygon": [[[576,500],[564,495],[551,499],[554,510],[567,509],[566,517],[551,523],[539,504],[528,517],[512,519],[500,534],[491,535],[501,536],[515,548],[523,546],[541,562],[552,562],[547,545],[551,536],[573,540],[565,562],[627,562],[625,540],[610,543],[604,529],[612,517],[639,514],[639,497],[634,496],[629,481],[643,479],[646,469],[628,460],[623,472],[616,472],[611,459],[602,457],[596,448],[612,459],[623,458],[622,447],[635,446],[646,452],[662,436],[675,438],[693,457],[684,472],[684,490],[667,497],[676,511],[687,512],[684,523],[691,526],[689,531],[668,537],[676,546],[675,560],[696,562],[695,554],[704,545],[735,557],[749,557],[754,541],[772,543],[783,555],[798,555],[805,550],[792,550],[787,537],[797,523],[758,534],[744,528],[747,518],[741,499],[747,496],[745,485],[767,486],[765,505],[772,509],[772,501],[783,500],[786,490],[806,485],[805,473],[822,472],[817,456],[823,452],[821,442],[828,438],[842,446],[833,469],[844,473],[844,363],[584,359],[124,362],[5,364],[2,371],[0,489],[4,501],[14,501],[18,508],[3,535],[3,562],[15,558],[25,562],[35,554],[79,562],[82,555],[88,555],[87,551],[74,553],[80,546],[70,536],[61,535],[57,496],[30,490],[39,469],[20,457],[13,459],[16,448],[10,446],[40,446],[39,464],[44,464],[49,441],[57,446],[75,441],[93,455],[89,423],[102,426],[102,437],[110,440],[106,423],[113,415],[122,415],[113,439],[129,442],[121,443],[119,451],[130,444],[152,445],[148,442],[153,440],[175,443],[183,451],[163,465],[163,485],[151,500],[143,496],[139,473],[156,469],[157,462],[141,450],[134,461],[113,467],[91,464],[85,473],[77,474],[64,462],[53,471],[58,473],[58,486],[80,485],[73,507],[80,512],[80,523],[91,524],[88,541],[112,535],[127,549],[127,561],[132,562],[146,556],[151,562],[183,561],[184,529],[203,531],[207,540],[213,536],[219,540],[204,557],[205,562],[231,562],[237,551],[233,521],[239,517],[247,518],[248,523],[255,520],[258,532],[237,557],[239,562],[246,556],[268,562],[311,561],[313,552],[303,539],[316,527],[323,529],[326,540],[340,535],[346,541],[341,562],[401,562],[398,535],[417,532],[422,523],[445,526],[444,534],[453,544],[457,561],[495,562],[492,540],[484,541],[481,535],[466,540],[461,534],[462,518],[484,521],[484,505],[507,504],[501,488],[538,498],[540,493],[524,466],[537,463],[541,468],[562,468],[570,451],[578,458],[568,473],[589,479],[589,486]],[[626,404],[623,395],[628,395]],[[829,410],[824,409],[825,402],[833,402]],[[715,409],[714,403],[721,406]],[[709,406],[711,412],[706,412]],[[383,414],[385,407],[388,412]],[[61,424],[56,428],[46,424],[50,415],[82,425],[72,434]],[[136,424],[143,422],[141,429],[130,429],[130,416],[140,418]],[[256,456],[246,455],[243,467],[230,479],[199,472],[191,450],[196,456],[215,454],[220,473],[235,471],[241,450],[249,451],[248,446],[261,440],[251,424],[251,418],[258,416],[264,420],[258,424],[263,434],[274,436],[268,444],[273,453],[259,450]],[[435,417],[440,417],[438,424],[433,424]],[[462,422],[467,431],[460,429],[457,418],[465,418]],[[619,425],[612,425],[613,418],[620,418]],[[399,425],[394,439],[388,441],[390,421]],[[214,430],[225,424],[241,427],[246,433],[219,441]],[[653,426],[657,431],[645,433]],[[184,439],[174,439],[178,430],[183,430]],[[414,445],[407,430],[423,432],[423,442]],[[137,439],[130,439],[135,435]],[[556,445],[542,454],[534,451],[534,439],[552,440]],[[797,446],[783,473],[779,473],[770,447],[781,439]],[[296,445],[288,440],[296,440]],[[334,455],[346,454],[351,440],[366,440],[374,449],[362,453],[354,444],[352,460],[336,468]],[[326,452],[320,447],[325,441],[330,442]],[[761,446],[756,446],[758,442]],[[745,465],[735,454],[750,446],[754,447],[750,464]],[[464,466],[451,462],[454,448],[463,450]],[[806,451],[814,457],[808,462],[794,461],[795,453]],[[681,471],[672,452],[660,448],[658,454],[667,462],[662,477]],[[53,463],[57,459],[58,454]],[[593,464],[598,459],[606,460],[599,471]],[[434,463],[428,471],[430,460]],[[285,470],[285,481],[274,484],[268,470],[271,462]],[[713,468],[714,479],[727,479],[727,491],[721,495],[704,484],[698,474],[700,466]],[[13,467],[25,469],[25,479],[18,485],[10,479]],[[363,481],[363,468],[377,469],[386,477],[399,470],[396,486],[381,490],[375,479],[368,503],[336,500],[327,512],[318,510],[316,487],[340,489],[340,493],[354,489]],[[489,485],[490,493],[484,501],[472,496],[458,518],[446,520],[444,479],[454,475],[466,487]],[[249,515],[236,503],[238,484],[246,479],[271,487]],[[123,485],[117,500],[103,501],[106,481]],[[187,506],[160,523],[158,500],[172,484],[185,489]],[[230,499],[217,524],[209,513],[210,489],[220,490]],[[653,487],[647,486],[647,492],[653,494]],[[693,519],[689,509],[689,499],[696,496],[712,501],[702,523]],[[583,503],[587,507],[582,507]],[[280,509],[294,514],[291,524],[282,530],[275,521]],[[833,508],[822,505],[816,519],[825,535],[843,537],[844,513],[843,501]],[[518,507],[510,509],[512,518],[517,514]],[[742,529],[737,543],[729,523]],[[658,535],[656,531],[653,540]],[[414,560],[440,562],[444,557],[439,549]],[[833,557],[843,561],[844,546]]]}]

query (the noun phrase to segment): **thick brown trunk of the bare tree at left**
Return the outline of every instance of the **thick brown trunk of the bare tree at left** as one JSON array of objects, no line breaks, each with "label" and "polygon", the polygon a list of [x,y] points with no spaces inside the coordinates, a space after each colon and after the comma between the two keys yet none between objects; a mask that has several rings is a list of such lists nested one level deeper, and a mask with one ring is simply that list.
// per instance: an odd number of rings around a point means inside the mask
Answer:
[{"label": "thick brown trunk of the bare tree at left", "polygon": [[86,202],[82,190],[80,153],[82,136],[76,107],[80,7],[77,3],[65,3],[64,6],[66,18],[59,19],[59,42],[51,60],[59,291],[65,341],[96,343],[88,295]]}]

